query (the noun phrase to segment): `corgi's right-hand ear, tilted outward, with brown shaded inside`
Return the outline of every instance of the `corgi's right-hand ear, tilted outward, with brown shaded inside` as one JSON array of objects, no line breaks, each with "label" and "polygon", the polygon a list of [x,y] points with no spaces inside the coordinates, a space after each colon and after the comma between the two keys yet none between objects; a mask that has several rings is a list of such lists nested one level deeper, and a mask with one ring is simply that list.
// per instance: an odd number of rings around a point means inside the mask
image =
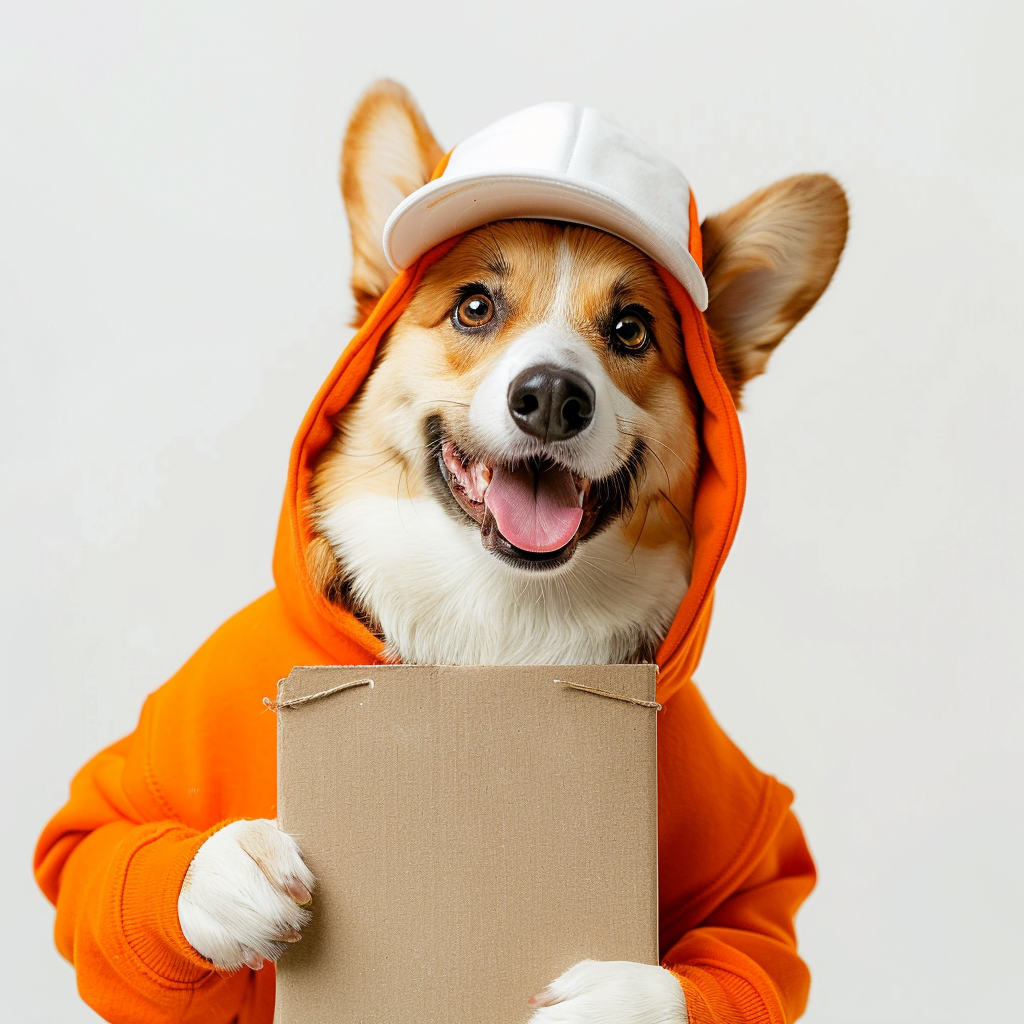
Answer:
[{"label": "corgi's right-hand ear, tilted outward, with brown shaded inside", "polygon": [[700,225],[719,370],[733,398],[817,302],[846,243],[848,210],[826,174],[778,181]]}]

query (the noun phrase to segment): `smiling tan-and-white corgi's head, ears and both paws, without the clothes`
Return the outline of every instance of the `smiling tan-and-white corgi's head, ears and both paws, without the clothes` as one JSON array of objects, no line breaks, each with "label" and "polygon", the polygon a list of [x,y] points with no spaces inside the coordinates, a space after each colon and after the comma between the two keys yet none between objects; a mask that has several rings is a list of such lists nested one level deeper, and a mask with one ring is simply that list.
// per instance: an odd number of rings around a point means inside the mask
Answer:
[{"label": "smiling tan-and-white corgi's head, ears and both paws, without the clothes", "polygon": [[[341,165],[356,325],[395,275],[385,221],[442,156],[404,89],[367,93]],[[706,317],[737,404],[828,284],[846,230],[843,190],[820,174],[705,220]],[[404,663],[652,660],[689,585],[699,415],[647,255],[559,220],[475,227],[425,270],[335,421],[310,492],[310,577]],[[262,916],[232,912],[234,877]],[[298,937],[312,885],[290,837],[237,821],[189,867],[182,931],[218,968],[259,967]],[[686,1019],[678,981],[638,964],[585,961],[532,1006],[538,1022]]]}]

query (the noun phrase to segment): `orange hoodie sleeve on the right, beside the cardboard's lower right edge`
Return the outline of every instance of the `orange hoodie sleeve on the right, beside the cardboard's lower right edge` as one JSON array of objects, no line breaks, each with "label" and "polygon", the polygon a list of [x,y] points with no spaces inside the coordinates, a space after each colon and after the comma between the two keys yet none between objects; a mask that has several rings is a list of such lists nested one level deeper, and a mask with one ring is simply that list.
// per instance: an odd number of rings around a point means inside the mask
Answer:
[{"label": "orange hoodie sleeve on the right, beside the cardboard's lower right edge", "polygon": [[663,957],[682,983],[689,1024],[800,1017],[810,975],[797,955],[793,920],[813,886],[813,861],[787,811],[754,869]]}]

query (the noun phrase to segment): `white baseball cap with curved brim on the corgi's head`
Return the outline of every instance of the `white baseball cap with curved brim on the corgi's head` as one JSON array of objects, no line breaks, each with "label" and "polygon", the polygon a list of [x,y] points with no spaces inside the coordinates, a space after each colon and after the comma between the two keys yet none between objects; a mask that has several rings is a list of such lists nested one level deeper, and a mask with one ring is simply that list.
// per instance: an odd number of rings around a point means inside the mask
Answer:
[{"label": "white baseball cap with curved brim on the corgi's head", "polygon": [[403,270],[438,243],[495,220],[597,227],[656,260],[708,308],[688,248],[690,186],[682,171],[591,108],[528,106],[460,142],[442,173],[384,225],[384,254]]}]

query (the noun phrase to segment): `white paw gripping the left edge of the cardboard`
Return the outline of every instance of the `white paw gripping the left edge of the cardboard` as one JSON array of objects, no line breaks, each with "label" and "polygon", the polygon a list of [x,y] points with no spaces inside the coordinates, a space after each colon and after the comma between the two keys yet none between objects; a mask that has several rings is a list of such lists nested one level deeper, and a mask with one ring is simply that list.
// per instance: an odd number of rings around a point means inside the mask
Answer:
[{"label": "white paw gripping the left edge of the cardboard", "polygon": [[276,822],[232,821],[188,865],[178,922],[193,948],[218,971],[259,970],[297,942],[309,922],[313,888],[291,836]]}]

